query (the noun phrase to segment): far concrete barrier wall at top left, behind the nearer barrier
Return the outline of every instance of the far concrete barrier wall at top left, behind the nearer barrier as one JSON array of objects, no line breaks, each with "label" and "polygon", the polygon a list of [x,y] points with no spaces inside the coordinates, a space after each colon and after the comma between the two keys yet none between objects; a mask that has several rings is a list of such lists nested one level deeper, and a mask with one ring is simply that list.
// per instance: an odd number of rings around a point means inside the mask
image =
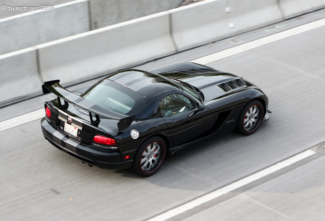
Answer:
[{"label": "far concrete barrier wall at top left, behind the nearer barrier", "polygon": [[[170,10],[181,2],[78,0],[45,8],[49,10],[41,10],[41,6],[37,6],[37,11],[0,19],[0,55]],[[6,10],[9,10],[8,7]]]}]

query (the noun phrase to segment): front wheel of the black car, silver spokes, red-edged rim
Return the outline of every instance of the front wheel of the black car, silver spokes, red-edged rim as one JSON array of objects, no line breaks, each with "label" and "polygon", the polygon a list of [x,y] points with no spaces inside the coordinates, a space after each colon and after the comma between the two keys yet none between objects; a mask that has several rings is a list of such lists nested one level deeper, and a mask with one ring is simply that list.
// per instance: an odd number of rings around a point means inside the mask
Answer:
[{"label": "front wheel of the black car, silver spokes, red-edged rim", "polygon": [[246,104],[239,116],[237,131],[243,135],[251,135],[255,132],[264,116],[263,105],[260,101],[253,100]]}]

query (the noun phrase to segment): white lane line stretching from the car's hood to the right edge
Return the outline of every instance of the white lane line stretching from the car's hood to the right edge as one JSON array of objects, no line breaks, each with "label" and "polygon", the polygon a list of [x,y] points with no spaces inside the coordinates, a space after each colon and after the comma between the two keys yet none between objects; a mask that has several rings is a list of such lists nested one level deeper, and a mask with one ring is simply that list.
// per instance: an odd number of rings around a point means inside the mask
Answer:
[{"label": "white lane line stretching from the car's hood to the right edge", "polygon": [[211,54],[211,55],[206,55],[204,57],[194,59],[194,60],[192,60],[190,62],[199,63],[199,64],[211,63],[211,62],[214,62],[214,61],[217,61],[217,60],[221,60],[223,58],[227,58],[227,57],[230,57],[230,56],[233,56],[233,55],[240,54],[240,53],[245,52],[245,51],[249,51],[251,49],[256,49],[256,48],[259,48],[261,46],[265,46],[265,45],[267,45],[269,43],[272,43],[272,42],[275,42],[275,41],[278,41],[278,40],[282,40],[284,38],[288,38],[288,37],[291,37],[293,35],[297,35],[297,34],[300,34],[300,33],[303,33],[303,32],[313,30],[315,28],[322,27],[324,25],[325,25],[325,18],[322,18],[320,20],[313,21],[312,23],[301,25],[301,26],[298,26],[298,27],[295,27],[295,28],[292,28],[292,29],[289,29],[289,30],[286,30],[286,31],[283,31],[283,32],[279,32],[279,33],[269,35],[269,36],[266,36],[266,37],[263,37],[263,38],[260,38],[260,39],[257,39],[257,40],[253,40],[253,41],[250,41],[250,42],[247,42],[247,43],[243,43],[242,45],[239,45],[239,46],[236,46],[236,47],[233,47],[233,48],[229,48],[229,49],[226,49],[226,50],[223,50],[223,51],[220,51],[220,52],[216,52],[216,53]]}]

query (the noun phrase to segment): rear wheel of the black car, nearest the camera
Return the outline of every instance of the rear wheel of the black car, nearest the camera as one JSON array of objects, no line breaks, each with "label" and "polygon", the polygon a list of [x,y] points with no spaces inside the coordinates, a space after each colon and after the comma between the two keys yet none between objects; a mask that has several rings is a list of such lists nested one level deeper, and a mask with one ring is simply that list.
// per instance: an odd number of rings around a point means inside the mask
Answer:
[{"label": "rear wheel of the black car, nearest the camera", "polygon": [[150,176],[157,172],[166,156],[165,141],[152,137],[145,141],[137,151],[132,171],[141,176]]}]

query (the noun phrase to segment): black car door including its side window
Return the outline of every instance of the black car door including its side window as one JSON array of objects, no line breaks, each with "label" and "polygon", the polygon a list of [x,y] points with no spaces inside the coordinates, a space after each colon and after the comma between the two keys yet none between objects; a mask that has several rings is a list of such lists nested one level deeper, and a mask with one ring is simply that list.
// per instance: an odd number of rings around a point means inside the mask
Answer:
[{"label": "black car door including its side window", "polygon": [[199,137],[215,124],[215,117],[210,109],[199,111],[195,102],[182,94],[171,94],[162,98],[159,107],[174,146]]}]

